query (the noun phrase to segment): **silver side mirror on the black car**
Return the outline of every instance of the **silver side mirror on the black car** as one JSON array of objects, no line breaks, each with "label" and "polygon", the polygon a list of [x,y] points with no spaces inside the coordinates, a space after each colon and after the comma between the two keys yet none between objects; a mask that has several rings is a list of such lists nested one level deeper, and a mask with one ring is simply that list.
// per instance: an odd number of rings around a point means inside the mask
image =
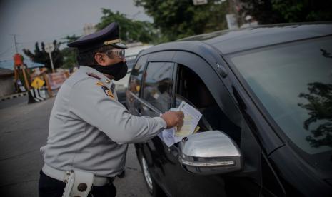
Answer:
[{"label": "silver side mirror on the black car", "polygon": [[242,154],[223,131],[206,131],[183,138],[178,159],[182,167],[200,175],[230,173],[242,168]]}]

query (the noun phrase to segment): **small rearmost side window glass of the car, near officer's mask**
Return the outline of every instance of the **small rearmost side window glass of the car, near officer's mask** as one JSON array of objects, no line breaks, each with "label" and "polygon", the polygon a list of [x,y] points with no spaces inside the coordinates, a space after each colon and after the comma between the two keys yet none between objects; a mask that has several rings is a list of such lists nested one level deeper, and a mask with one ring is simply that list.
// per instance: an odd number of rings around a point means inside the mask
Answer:
[{"label": "small rearmost side window glass of the car, near officer's mask", "polygon": [[131,77],[129,79],[129,90],[139,96],[141,89],[141,80],[143,77],[144,65],[146,63],[147,56],[141,56],[131,71]]}]

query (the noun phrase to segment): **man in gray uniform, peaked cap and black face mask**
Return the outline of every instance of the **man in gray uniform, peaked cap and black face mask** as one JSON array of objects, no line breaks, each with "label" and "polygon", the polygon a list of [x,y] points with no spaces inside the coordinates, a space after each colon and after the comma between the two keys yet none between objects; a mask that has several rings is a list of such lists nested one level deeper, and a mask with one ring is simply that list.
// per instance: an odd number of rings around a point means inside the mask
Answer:
[{"label": "man in gray uniform, peaked cap and black face mask", "polygon": [[181,127],[183,113],[133,116],[117,101],[112,79],[127,73],[118,24],[68,46],[78,49],[81,66],[54,101],[49,137],[41,147],[39,196],[116,196],[112,182],[124,171],[127,143],[142,143],[164,128]]}]

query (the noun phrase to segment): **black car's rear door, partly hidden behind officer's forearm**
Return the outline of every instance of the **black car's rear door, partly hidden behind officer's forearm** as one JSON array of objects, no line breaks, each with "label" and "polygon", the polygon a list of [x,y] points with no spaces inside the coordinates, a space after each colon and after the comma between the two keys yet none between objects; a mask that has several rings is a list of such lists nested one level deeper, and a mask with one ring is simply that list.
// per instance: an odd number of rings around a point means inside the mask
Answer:
[{"label": "black car's rear door, partly hidden behind officer's forearm", "polygon": [[[171,59],[175,52],[164,51],[149,55],[144,71],[141,89],[141,115],[159,116],[171,108],[173,103],[173,72],[175,64]],[[165,155],[166,145],[156,136],[141,147],[146,162],[149,165],[151,176],[154,177],[161,188],[166,188],[168,183],[164,171],[164,163],[168,160]]]}]

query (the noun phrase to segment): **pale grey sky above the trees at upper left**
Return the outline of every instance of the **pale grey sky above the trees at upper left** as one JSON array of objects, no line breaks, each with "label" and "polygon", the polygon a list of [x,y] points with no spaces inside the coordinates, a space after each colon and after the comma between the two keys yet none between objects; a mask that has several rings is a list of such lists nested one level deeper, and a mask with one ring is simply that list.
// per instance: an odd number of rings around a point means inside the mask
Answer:
[{"label": "pale grey sky above the trees at upper left", "polygon": [[0,0],[0,62],[12,60],[14,34],[19,53],[67,35],[82,35],[84,24],[97,24],[101,8],[126,14],[127,18],[153,21],[133,0]]}]

